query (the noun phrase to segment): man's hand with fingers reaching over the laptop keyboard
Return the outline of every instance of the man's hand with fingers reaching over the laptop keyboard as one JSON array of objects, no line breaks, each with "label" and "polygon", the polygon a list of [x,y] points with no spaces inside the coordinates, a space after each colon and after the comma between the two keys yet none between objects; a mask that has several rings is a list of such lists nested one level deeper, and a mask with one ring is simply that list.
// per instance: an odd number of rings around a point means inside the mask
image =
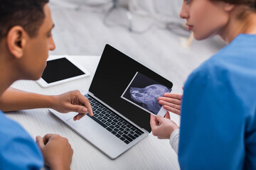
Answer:
[{"label": "man's hand with fingers reaching over the laptop keyboard", "polygon": [[75,115],[74,120],[80,120],[86,113],[89,113],[90,116],[93,115],[90,102],[78,90],[56,95],[53,98],[51,108],[60,113],[77,112],[78,115]]}]

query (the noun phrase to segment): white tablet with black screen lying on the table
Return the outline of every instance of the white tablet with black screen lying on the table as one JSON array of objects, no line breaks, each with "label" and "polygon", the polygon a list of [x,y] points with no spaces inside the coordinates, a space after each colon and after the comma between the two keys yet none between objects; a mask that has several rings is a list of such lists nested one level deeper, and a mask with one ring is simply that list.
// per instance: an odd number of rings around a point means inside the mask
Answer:
[{"label": "white tablet with black screen lying on the table", "polygon": [[48,87],[87,76],[90,76],[90,73],[70,56],[50,56],[41,79],[36,82],[42,87]]}]

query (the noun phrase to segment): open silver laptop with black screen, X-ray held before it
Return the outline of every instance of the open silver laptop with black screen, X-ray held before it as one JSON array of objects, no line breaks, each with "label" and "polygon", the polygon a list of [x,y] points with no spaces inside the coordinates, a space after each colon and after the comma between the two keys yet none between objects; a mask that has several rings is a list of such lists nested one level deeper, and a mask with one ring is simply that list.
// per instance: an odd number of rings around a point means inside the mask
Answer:
[{"label": "open silver laptop with black screen, X-ray held before it", "polygon": [[171,91],[172,86],[171,81],[106,45],[85,94],[94,115],[74,121],[77,113],[50,111],[101,152],[116,159],[149,135],[150,114],[156,115],[162,109],[157,98]]}]

